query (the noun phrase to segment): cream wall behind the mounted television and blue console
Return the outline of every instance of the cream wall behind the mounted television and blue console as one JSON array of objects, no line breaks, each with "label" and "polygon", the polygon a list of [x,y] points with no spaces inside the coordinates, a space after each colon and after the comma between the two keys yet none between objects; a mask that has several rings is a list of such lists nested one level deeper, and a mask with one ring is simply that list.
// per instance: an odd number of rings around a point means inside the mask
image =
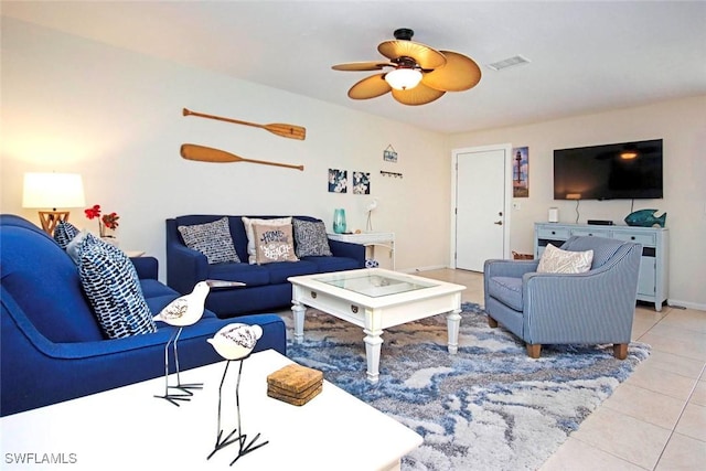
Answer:
[{"label": "cream wall behind the mounted television and blue console", "polygon": [[530,197],[514,199],[511,246],[532,253],[533,224],[547,221],[550,206],[559,221],[576,221],[576,203],[555,201],[554,149],[632,140],[664,139],[664,199],[581,201],[579,223],[610,220],[625,224],[632,210],[667,212],[671,303],[706,309],[706,96],[548,122],[454,135],[451,149],[512,142],[530,148]]}]

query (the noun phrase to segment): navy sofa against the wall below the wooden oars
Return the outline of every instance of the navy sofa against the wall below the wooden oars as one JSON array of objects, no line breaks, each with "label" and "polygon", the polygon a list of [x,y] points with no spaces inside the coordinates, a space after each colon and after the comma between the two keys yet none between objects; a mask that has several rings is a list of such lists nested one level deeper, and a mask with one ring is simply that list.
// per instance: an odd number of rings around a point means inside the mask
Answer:
[{"label": "navy sofa against the wall below the wooden oars", "polygon": [[[365,247],[329,239],[332,257],[302,257],[299,261],[278,261],[265,265],[248,264],[247,235],[243,216],[227,216],[235,250],[242,263],[208,265],[206,257],[189,248],[179,233],[179,226],[212,223],[223,215],[188,215],[167,220],[167,283],[181,293],[205,279],[240,281],[245,287],[213,290],[206,307],[220,318],[232,318],[248,312],[261,312],[291,306],[291,283],[288,277],[329,271],[365,268]],[[284,216],[250,216],[275,218]],[[292,216],[319,222],[310,216]],[[296,244],[296,240],[295,240]]]}]

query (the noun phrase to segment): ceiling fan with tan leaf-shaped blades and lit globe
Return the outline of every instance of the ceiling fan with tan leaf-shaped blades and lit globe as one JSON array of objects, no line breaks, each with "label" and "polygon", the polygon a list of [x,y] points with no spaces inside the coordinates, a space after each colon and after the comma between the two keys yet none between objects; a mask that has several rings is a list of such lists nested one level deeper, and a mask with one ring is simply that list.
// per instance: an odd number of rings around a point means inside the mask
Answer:
[{"label": "ceiling fan with tan leaf-shaped blades and lit globe", "polygon": [[384,41],[377,51],[389,61],[351,62],[332,66],[334,71],[389,72],[363,78],[351,87],[349,97],[368,99],[393,93],[403,105],[425,105],[447,92],[463,92],[481,79],[481,69],[470,57],[451,51],[437,51],[411,41],[414,31],[396,30],[394,41]]}]

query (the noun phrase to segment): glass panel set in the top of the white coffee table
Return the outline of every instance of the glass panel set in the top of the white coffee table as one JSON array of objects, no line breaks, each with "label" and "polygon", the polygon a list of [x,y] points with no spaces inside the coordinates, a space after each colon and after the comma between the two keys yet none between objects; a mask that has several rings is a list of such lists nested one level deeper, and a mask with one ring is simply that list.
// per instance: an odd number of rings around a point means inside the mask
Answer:
[{"label": "glass panel set in the top of the white coffee table", "polygon": [[411,279],[405,276],[387,276],[381,274],[336,274],[315,278],[317,281],[357,292],[359,295],[378,298],[382,296],[399,295],[402,292],[416,291],[432,288],[437,285],[429,281]]}]

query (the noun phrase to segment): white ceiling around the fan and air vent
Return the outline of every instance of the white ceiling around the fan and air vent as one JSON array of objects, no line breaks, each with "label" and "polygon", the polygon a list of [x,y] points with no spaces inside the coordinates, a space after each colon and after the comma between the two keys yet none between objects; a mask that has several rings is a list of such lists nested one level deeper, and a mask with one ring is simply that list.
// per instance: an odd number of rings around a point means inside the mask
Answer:
[{"label": "white ceiling around the fan and air vent", "polygon": [[[1,13],[442,132],[706,94],[704,1],[2,1]],[[373,73],[331,65],[381,58],[398,28],[472,57],[481,83],[418,107],[347,98]],[[488,67],[515,55],[531,63]]]}]

